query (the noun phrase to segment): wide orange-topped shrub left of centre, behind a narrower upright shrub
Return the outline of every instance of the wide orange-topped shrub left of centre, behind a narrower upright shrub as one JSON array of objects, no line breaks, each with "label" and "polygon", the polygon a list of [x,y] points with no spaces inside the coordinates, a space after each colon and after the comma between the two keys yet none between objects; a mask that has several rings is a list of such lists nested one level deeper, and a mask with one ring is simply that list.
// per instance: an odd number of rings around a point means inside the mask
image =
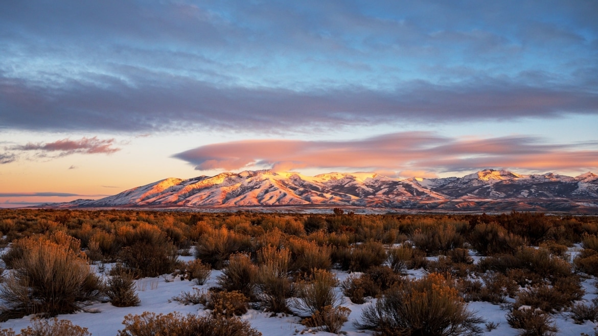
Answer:
[{"label": "wide orange-topped shrub left of centre, behind a narrower upright shrub", "polygon": [[225,227],[219,230],[209,228],[196,245],[195,256],[220,270],[234,252],[242,252],[250,246],[247,236],[234,233]]}]

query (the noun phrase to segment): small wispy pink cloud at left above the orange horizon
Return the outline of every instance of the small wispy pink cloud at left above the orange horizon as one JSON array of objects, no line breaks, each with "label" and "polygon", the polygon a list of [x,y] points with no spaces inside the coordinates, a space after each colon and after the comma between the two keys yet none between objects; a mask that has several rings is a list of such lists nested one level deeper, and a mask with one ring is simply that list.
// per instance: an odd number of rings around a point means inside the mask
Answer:
[{"label": "small wispy pink cloud at left above the orange horizon", "polygon": [[80,140],[62,139],[48,143],[28,143],[23,146],[16,146],[19,151],[42,151],[60,152],[60,156],[71,154],[112,154],[120,151],[120,148],[112,147],[114,139],[82,138]]}]

